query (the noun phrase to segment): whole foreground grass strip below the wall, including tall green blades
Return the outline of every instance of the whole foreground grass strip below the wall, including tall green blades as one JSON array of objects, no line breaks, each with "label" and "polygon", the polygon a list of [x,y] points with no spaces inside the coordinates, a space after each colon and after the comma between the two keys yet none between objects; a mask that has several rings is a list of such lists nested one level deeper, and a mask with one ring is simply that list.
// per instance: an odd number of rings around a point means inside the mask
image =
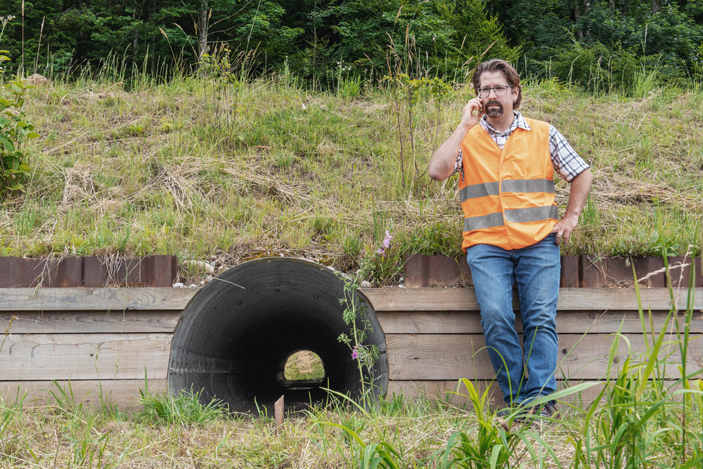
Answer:
[{"label": "whole foreground grass strip below the wall, including tall green blades", "polygon": [[[617,379],[596,386],[603,393],[592,404],[560,405],[562,415],[551,425],[498,419],[495,410],[481,402],[481,395],[469,391],[470,382],[462,384],[460,392],[476,400],[481,412],[402,396],[390,396],[363,410],[338,405],[331,398],[304,416],[288,415],[278,432],[270,417],[208,410],[192,395],[148,395],[142,399],[143,410],[136,412],[5,402],[0,403],[0,464],[15,468],[54,464],[75,468],[699,467],[703,388],[689,391],[683,403],[675,387],[659,389],[655,382],[637,398],[637,378],[646,364],[623,367]],[[162,409],[158,413],[156,402]]]}]

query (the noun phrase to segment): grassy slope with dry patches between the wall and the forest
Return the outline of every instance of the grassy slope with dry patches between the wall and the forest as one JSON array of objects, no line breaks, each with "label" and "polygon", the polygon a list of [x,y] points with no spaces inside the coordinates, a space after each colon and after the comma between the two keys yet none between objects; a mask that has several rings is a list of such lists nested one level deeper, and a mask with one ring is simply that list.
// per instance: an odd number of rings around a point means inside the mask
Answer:
[{"label": "grassy slope with dry patches between the wall and the forest", "polygon": [[[281,253],[351,268],[375,251],[385,230],[395,235],[396,254],[459,253],[456,181],[435,183],[425,174],[409,182],[401,108],[403,187],[389,93],[348,99],[269,78],[244,85],[235,105],[231,93],[210,85],[186,79],[131,93],[95,82],[32,90],[28,112],[42,133],[35,174],[26,196],[0,209],[0,254],[119,251],[234,263]],[[549,81],[527,85],[524,96],[524,114],[555,124],[593,167],[591,199],[565,254],[699,249],[700,90],[631,99]],[[218,97],[229,99],[232,124],[223,124]],[[458,90],[414,107],[420,172],[468,98]],[[562,210],[567,191],[560,182]]]}]

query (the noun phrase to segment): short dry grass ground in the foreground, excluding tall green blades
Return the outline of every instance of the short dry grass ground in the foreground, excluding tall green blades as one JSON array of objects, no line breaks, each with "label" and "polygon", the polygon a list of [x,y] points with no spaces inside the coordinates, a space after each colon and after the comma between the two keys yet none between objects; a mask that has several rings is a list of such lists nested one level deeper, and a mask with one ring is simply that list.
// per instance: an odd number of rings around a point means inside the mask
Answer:
[{"label": "short dry grass ground in the foreground, excluding tall green blades", "polygon": [[[70,405],[22,409],[0,404],[0,411],[8,409],[13,415],[0,433],[0,465],[13,468],[352,467],[359,447],[336,425],[356,432],[364,444],[390,444],[399,451],[403,467],[435,468],[438,461],[431,463],[431,458],[447,445],[452,433],[464,432],[476,438],[480,427],[470,410],[397,398],[373,415],[342,408],[313,408],[304,416],[288,415],[280,429],[270,417],[244,415],[200,425],[167,425],[144,420],[139,413],[101,412]],[[515,447],[511,467],[573,467],[575,445],[584,432],[584,422],[566,406],[562,412],[552,425],[510,427],[526,437]],[[691,420],[694,427],[690,430],[698,431],[699,424]],[[650,455],[649,461],[674,467],[677,458],[660,449],[659,455]]]}]

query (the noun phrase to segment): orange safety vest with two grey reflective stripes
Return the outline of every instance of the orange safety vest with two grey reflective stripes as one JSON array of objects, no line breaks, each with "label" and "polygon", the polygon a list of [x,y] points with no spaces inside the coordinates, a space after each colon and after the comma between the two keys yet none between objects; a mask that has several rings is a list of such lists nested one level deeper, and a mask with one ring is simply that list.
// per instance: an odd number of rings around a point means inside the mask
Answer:
[{"label": "orange safety vest with two grey reflective stripes", "polygon": [[531,130],[515,129],[502,151],[480,125],[462,141],[459,195],[464,210],[464,251],[474,244],[503,249],[531,246],[558,221],[549,124],[525,121]]}]

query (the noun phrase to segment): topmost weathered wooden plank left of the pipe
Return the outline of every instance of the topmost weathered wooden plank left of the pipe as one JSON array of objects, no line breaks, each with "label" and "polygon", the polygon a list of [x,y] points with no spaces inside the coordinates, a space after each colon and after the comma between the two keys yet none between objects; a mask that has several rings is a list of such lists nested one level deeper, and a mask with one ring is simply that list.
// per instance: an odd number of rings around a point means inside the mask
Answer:
[{"label": "topmost weathered wooden plank left of the pipe", "polygon": [[179,309],[199,288],[0,288],[0,311]]}]

